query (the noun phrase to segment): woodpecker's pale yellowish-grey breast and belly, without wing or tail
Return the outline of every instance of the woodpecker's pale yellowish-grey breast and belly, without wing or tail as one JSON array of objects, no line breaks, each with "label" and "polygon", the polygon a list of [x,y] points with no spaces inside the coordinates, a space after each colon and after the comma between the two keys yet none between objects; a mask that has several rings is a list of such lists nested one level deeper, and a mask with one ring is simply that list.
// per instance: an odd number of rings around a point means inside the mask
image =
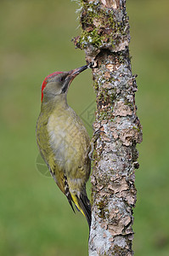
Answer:
[{"label": "woodpecker's pale yellowish-grey breast and belly, without wing or tail", "polygon": [[71,109],[55,110],[48,119],[49,143],[55,162],[65,172],[84,166],[89,147],[89,137],[82,120]]}]

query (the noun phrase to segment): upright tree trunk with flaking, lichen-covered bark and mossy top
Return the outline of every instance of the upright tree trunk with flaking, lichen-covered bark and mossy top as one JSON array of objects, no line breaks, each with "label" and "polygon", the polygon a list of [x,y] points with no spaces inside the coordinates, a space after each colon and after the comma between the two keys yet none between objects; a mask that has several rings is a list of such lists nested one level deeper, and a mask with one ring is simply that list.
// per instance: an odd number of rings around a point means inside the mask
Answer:
[{"label": "upright tree trunk with flaking, lichen-covered bark and mossy top", "polygon": [[136,144],[142,130],[136,115],[137,84],[132,75],[125,0],[82,0],[82,35],[76,47],[93,62],[96,92],[89,255],[132,255],[132,207],[136,203]]}]

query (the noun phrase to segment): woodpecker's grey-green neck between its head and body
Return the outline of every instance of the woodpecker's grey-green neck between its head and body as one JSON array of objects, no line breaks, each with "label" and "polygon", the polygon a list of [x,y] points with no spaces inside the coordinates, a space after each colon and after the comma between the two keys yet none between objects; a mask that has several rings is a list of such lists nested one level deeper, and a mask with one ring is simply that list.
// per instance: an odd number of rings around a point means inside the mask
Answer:
[{"label": "woodpecker's grey-green neck between its head and body", "polygon": [[54,98],[50,99],[49,101],[42,101],[42,112],[52,113],[55,109],[57,110],[64,110],[69,108],[67,104],[67,97],[66,94],[60,94],[58,96],[54,96]]}]

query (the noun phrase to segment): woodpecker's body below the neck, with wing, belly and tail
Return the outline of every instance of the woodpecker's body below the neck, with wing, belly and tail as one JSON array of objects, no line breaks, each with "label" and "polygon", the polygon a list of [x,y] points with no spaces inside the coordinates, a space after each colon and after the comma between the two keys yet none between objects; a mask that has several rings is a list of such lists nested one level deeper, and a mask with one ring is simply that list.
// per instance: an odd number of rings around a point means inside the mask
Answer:
[{"label": "woodpecker's body below the neck, with wing, belly and tail", "polygon": [[41,113],[37,120],[37,145],[70,206],[74,201],[90,225],[91,206],[86,193],[90,140],[82,120],[71,108],[65,113],[50,113],[49,118]]}]

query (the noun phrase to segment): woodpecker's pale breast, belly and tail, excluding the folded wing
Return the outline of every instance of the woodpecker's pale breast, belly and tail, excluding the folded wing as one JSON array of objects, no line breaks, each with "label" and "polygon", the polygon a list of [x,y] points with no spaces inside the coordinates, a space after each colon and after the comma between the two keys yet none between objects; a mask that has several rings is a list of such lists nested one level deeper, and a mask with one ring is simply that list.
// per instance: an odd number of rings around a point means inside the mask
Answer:
[{"label": "woodpecker's pale breast, belly and tail, excluding the folded wing", "polygon": [[90,139],[86,128],[76,113],[67,108],[64,113],[60,110],[50,115],[48,134],[54,152],[55,175],[57,172],[65,172],[71,199],[90,224],[91,206],[86,193],[91,169],[88,158]]}]

